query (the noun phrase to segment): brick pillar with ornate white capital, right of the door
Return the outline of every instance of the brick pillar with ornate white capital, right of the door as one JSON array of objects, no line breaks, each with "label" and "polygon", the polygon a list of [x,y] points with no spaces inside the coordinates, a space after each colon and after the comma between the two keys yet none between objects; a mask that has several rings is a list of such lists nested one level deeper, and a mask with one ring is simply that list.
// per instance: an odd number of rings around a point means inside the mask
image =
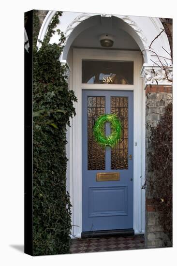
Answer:
[{"label": "brick pillar with ornate white capital, right of the door", "polygon": [[159,222],[161,213],[155,199],[152,199],[148,191],[148,177],[153,178],[155,173],[148,171],[148,150],[150,148],[150,126],[156,127],[165,112],[165,107],[172,101],[172,65],[162,69],[156,65],[144,64],[141,77],[146,90],[146,225],[145,247],[160,248],[169,240],[162,225]]}]

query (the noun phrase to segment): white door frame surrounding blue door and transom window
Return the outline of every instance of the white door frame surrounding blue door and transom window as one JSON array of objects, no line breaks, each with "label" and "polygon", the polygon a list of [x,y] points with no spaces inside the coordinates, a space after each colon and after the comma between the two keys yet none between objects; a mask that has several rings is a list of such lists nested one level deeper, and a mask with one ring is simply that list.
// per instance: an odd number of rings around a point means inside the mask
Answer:
[{"label": "white door frame surrounding blue door and transom window", "polygon": [[[82,59],[134,61],[134,84],[82,84]],[[74,236],[81,237],[82,232],[82,89],[133,90],[133,229],[135,234],[144,233],[145,193],[141,189],[143,182],[141,177],[144,177],[145,173],[145,91],[142,89],[140,78],[141,67],[142,58],[139,51],[73,49],[72,83],[78,100],[74,103],[76,116],[70,128],[69,158],[70,165],[72,165],[70,196],[73,205],[72,234]]]}]

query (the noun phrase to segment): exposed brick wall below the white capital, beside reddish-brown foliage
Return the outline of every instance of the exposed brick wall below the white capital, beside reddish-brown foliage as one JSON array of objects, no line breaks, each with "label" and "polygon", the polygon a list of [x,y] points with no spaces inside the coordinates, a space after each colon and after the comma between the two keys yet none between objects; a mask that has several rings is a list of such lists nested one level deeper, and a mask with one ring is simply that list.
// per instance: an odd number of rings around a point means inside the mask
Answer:
[{"label": "exposed brick wall below the white capital, beside reddish-brown foliage", "polygon": [[[165,112],[165,106],[172,100],[172,87],[170,86],[148,86],[146,88],[146,125],[156,127],[162,114]],[[153,176],[155,173],[148,173],[148,157],[150,130],[146,127],[146,180],[148,175]],[[160,248],[165,245],[169,246],[168,236],[165,234],[163,227],[159,224],[158,204],[152,201],[148,186],[146,189],[146,230],[145,230],[145,247]]]}]

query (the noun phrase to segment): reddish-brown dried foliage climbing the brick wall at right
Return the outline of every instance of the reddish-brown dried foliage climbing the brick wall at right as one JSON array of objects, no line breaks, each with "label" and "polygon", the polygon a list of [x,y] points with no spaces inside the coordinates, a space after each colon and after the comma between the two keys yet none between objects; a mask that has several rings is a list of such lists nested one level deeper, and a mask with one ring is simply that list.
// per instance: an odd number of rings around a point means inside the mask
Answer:
[{"label": "reddish-brown dried foliage climbing the brick wall at right", "polygon": [[149,141],[148,192],[160,211],[159,222],[172,246],[172,103],[166,106],[157,127],[151,127]]}]

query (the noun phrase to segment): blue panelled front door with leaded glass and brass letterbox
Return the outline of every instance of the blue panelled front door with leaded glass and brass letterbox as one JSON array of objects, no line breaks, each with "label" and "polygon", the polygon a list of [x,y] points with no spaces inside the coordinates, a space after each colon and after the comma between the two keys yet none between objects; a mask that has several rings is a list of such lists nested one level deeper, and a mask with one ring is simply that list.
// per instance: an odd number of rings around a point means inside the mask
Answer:
[{"label": "blue panelled front door with leaded glass and brass letterbox", "polygon": [[[120,119],[122,134],[115,148],[103,148],[93,135],[95,121],[103,114],[116,114]],[[105,123],[105,135],[110,133],[110,124]],[[114,178],[115,173],[118,178]],[[106,180],[98,179],[99,175],[103,175]],[[83,90],[82,231],[131,228],[133,228],[133,92]]]}]

